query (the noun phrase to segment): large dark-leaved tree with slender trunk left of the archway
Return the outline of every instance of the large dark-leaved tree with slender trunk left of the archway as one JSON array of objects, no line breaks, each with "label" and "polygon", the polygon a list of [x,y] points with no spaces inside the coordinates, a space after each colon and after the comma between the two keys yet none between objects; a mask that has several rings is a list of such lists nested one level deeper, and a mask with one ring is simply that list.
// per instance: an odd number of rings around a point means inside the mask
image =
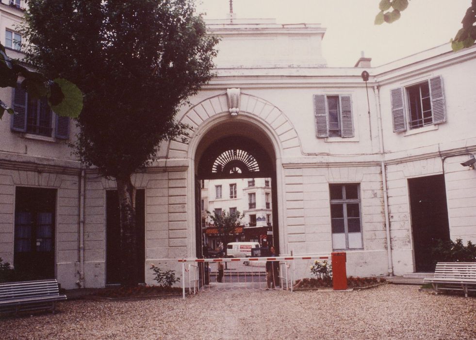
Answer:
[{"label": "large dark-leaved tree with slender trunk left of the archway", "polygon": [[217,39],[193,0],[29,0],[27,59],[49,79],[79,87],[74,150],[117,184],[122,284],[137,279],[131,175],[162,141],[186,135],[175,116],[212,77]]}]

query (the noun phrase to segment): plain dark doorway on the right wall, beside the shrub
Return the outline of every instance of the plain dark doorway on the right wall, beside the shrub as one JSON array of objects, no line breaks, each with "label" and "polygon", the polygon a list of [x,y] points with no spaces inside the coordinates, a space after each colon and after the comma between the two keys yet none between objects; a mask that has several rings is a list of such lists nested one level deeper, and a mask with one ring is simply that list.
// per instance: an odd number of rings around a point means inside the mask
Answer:
[{"label": "plain dark doorway on the right wall, beside the shrub", "polygon": [[433,272],[436,259],[431,248],[438,240],[449,240],[444,176],[408,180],[411,227],[416,272]]}]

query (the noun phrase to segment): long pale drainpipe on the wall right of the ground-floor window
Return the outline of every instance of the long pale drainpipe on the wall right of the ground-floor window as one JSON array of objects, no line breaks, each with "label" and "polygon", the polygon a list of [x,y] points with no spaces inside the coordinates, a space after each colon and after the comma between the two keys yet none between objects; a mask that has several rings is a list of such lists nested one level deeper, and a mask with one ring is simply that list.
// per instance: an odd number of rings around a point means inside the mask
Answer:
[{"label": "long pale drainpipe on the wall right of the ground-floor window", "polygon": [[[380,144],[380,155],[383,157],[384,147],[383,147],[383,126],[382,126],[382,116],[380,112],[380,92],[378,86],[374,86],[374,94],[376,99],[376,108],[377,108],[377,120],[378,120],[378,142]],[[388,257],[388,274],[389,276],[394,275],[394,262],[392,259],[392,240],[390,238],[390,218],[388,211],[388,190],[387,190],[387,170],[385,169],[385,162],[382,160],[380,162],[380,167],[382,171],[382,186],[383,186],[383,206],[385,211],[385,231],[387,234],[387,257]]]}]

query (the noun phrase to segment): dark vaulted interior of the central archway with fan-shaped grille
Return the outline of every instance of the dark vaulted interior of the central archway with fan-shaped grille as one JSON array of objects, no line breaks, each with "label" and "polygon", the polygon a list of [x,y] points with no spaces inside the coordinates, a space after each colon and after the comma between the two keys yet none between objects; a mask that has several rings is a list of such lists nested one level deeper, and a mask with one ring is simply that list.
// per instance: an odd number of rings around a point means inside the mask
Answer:
[{"label": "dark vaulted interior of the central archway with fan-shaped grille", "polygon": [[[195,216],[198,257],[203,255],[202,242],[204,239],[200,202],[202,180],[271,179],[269,186],[271,204],[267,208],[271,208],[272,223],[267,227],[273,233],[272,243],[279,249],[276,159],[277,155],[270,138],[259,126],[245,119],[224,119],[216,122],[202,137],[195,155]],[[246,197],[242,198],[243,201],[247,202]],[[247,214],[253,214],[254,208],[246,206],[244,209]],[[256,210],[260,211],[258,204],[256,204]],[[243,233],[246,234],[248,231],[250,230],[245,227]]]}]

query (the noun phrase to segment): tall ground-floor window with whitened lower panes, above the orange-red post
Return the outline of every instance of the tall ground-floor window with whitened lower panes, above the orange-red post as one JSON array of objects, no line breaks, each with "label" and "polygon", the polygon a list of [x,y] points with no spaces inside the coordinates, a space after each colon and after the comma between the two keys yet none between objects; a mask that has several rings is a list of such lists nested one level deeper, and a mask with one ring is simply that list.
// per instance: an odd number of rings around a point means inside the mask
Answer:
[{"label": "tall ground-floor window with whitened lower panes, above the orange-red post", "polygon": [[330,219],[333,249],[362,248],[358,184],[331,184]]}]

